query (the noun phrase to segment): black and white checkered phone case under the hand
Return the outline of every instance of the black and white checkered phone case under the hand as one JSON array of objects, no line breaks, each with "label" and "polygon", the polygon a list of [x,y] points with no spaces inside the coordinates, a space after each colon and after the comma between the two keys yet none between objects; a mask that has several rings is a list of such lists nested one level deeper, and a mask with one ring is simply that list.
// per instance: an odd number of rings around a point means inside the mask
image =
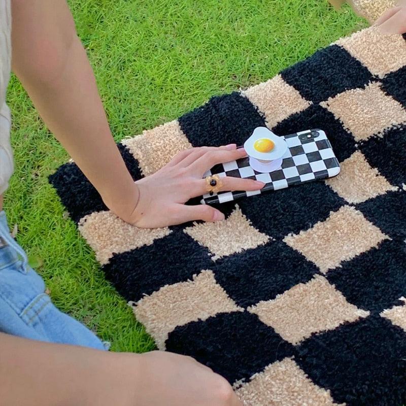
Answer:
[{"label": "black and white checkered phone case under the hand", "polygon": [[[299,138],[312,131],[318,131],[319,136],[310,140],[307,140],[306,137]],[[224,203],[270,190],[331,178],[340,173],[339,161],[335,157],[324,131],[311,129],[295,132],[282,138],[285,139],[288,149],[283,156],[282,166],[277,171],[267,174],[256,172],[250,166],[249,157],[245,157],[215,165],[204,175],[206,177],[217,174],[220,178],[233,176],[262,181],[265,186],[261,190],[207,193],[202,196],[201,203],[206,205]]]}]

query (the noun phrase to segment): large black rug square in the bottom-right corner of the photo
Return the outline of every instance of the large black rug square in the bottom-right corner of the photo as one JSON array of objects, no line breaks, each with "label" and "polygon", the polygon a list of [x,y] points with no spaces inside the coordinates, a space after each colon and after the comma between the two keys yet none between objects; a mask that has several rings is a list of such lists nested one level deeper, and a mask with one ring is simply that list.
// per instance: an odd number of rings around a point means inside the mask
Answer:
[{"label": "large black rug square in the bottom-right corner of the photo", "polygon": [[295,361],[337,403],[400,406],[406,401],[406,333],[387,319],[367,317],[314,335],[297,351]]}]

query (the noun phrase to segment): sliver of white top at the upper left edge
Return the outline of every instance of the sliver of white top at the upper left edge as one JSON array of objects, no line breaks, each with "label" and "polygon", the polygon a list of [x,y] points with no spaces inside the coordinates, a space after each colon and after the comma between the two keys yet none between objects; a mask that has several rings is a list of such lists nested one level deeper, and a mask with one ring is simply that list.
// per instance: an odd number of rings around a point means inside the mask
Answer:
[{"label": "sliver of white top at the upper left edge", "polygon": [[11,5],[0,0],[0,195],[9,186],[13,173],[13,153],[10,145],[10,109],[6,105],[6,89],[11,70]]}]

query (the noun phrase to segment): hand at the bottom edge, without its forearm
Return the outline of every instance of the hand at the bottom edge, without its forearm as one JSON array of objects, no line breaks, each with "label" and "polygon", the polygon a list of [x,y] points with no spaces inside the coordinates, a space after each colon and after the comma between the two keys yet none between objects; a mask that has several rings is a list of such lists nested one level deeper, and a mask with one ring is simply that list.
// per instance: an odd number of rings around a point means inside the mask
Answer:
[{"label": "hand at the bottom edge, without its forearm", "polygon": [[[134,354],[128,354],[133,358]],[[137,406],[242,406],[228,382],[191,357],[152,351],[128,371]]]}]

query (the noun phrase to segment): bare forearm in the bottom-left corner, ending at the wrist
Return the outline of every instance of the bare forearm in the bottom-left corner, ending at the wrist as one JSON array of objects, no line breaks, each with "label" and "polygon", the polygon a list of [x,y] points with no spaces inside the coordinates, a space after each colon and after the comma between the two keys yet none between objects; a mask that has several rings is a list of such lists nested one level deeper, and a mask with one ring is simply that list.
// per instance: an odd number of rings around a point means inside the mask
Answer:
[{"label": "bare forearm in the bottom-left corner, ending at the wrist", "polygon": [[131,365],[125,358],[0,333],[0,404],[133,405],[129,389],[134,377],[129,380],[127,375],[129,370],[134,373],[137,355]]}]

